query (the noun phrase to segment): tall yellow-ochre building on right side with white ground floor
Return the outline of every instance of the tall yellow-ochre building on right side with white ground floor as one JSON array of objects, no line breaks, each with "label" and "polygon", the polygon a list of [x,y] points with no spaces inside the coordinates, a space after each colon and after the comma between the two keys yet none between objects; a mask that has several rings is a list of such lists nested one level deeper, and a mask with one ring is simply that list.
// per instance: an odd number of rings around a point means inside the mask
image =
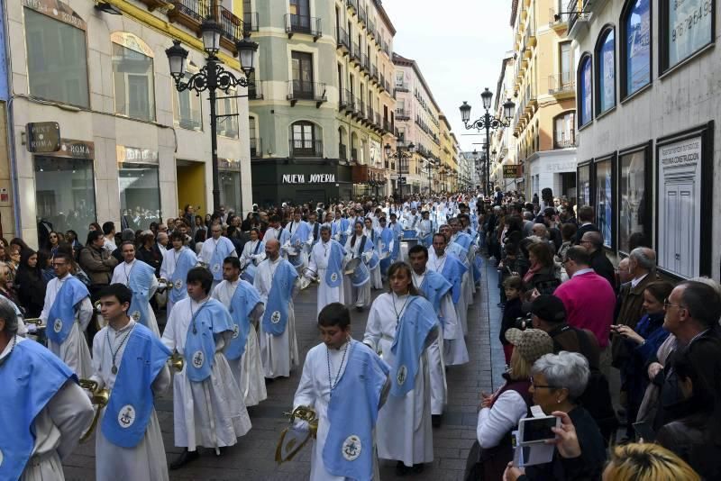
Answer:
[{"label": "tall yellow-ochre building on right side with white ground floor", "polygon": [[529,199],[547,187],[576,196],[573,51],[559,8],[558,0],[512,4],[516,158]]}]

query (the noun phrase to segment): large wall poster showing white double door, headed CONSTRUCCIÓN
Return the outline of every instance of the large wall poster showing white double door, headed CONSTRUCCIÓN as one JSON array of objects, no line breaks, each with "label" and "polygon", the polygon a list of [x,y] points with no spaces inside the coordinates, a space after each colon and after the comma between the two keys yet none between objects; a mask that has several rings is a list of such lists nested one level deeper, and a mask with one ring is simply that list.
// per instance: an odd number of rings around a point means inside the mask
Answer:
[{"label": "large wall poster showing white double door, headed CONSTRUCCI\u00d3N", "polygon": [[[701,181],[703,141],[703,135],[695,135],[660,144],[656,150],[658,266],[683,278],[704,273],[702,222],[710,222],[710,210],[701,212],[705,194]],[[705,175],[713,177],[712,172]]]}]

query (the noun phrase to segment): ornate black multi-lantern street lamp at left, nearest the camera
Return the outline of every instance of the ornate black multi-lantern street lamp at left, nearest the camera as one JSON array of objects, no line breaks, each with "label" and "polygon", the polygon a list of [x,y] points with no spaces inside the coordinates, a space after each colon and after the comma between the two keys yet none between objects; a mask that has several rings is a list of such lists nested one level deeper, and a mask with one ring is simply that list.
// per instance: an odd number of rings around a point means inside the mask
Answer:
[{"label": "ornate black multi-lantern street lamp at left, nearest the camera", "polygon": [[[173,41],[172,47],[165,50],[165,54],[168,56],[170,76],[173,77],[178,92],[192,90],[196,95],[200,95],[202,92],[205,92],[205,90],[208,91],[210,98],[210,141],[211,154],[213,156],[213,210],[214,212],[218,212],[220,210],[220,182],[218,178],[217,119],[220,117],[236,116],[238,114],[216,115],[215,101],[218,97],[215,96],[215,91],[222,90],[227,94],[228,90],[233,86],[252,85],[248,77],[251,76],[251,73],[255,69],[253,61],[255,59],[255,52],[258,50],[258,44],[249,40],[251,36],[250,32],[243,32],[242,41],[235,41],[235,48],[238,50],[238,55],[241,59],[241,68],[245,74],[245,77],[239,78],[223,68],[220,59],[216,57],[220,51],[220,39],[223,34],[221,25],[215,22],[212,17],[208,17],[201,24],[200,30],[203,37],[203,49],[207,54],[205,67],[188,78],[187,82],[183,81],[183,77],[186,75],[188,51],[180,46],[180,41],[176,40]],[[248,95],[229,95],[220,98],[242,98],[247,96]]]}]

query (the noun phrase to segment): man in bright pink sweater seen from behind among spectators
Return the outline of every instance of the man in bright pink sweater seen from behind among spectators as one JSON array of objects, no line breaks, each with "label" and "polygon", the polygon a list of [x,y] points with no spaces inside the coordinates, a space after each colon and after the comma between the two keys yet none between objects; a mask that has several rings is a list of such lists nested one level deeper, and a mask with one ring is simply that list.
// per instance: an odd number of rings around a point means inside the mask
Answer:
[{"label": "man in bright pink sweater seen from behind among spectators", "polygon": [[614,290],[589,267],[589,253],[580,246],[566,252],[563,267],[570,279],[558,286],[553,295],[563,302],[571,326],[588,329],[596,335],[601,349],[599,368],[608,377],[611,366],[608,336],[616,304]]}]

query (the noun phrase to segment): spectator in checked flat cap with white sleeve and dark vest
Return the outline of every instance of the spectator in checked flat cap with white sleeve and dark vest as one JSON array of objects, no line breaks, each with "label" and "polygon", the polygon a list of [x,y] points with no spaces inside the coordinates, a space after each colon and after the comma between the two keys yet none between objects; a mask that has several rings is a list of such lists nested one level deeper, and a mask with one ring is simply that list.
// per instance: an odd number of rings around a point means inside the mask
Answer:
[{"label": "spectator in checked flat cap with white sleeve and dark vest", "polygon": [[481,448],[479,471],[482,479],[500,479],[513,458],[511,431],[530,415],[531,367],[536,359],[552,351],[551,338],[536,329],[510,329],[507,340],[513,346],[506,384],[494,395],[482,394],[476,437]]}]

